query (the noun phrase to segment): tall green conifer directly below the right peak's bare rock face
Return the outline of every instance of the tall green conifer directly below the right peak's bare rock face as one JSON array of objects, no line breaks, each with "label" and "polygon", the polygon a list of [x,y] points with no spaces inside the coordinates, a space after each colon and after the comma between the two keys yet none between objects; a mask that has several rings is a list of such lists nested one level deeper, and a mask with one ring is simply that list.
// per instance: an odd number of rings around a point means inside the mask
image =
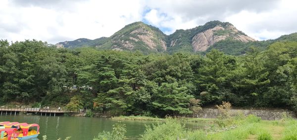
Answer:
[{"label": "tall green conifer directly below the right peak's bare rock face", "polygon": [[[234,59],[227,57],[223,52],[216,49],[206,54],[206,58],[202,60],[198,67],[198,75],[196,78],[197,94],[202,104],[213,104],[220,102],[226,95],[231,94],[226,88],[227,75],[230,70],[234,69]],[[207,94],[201,94],[207,93]]]}]

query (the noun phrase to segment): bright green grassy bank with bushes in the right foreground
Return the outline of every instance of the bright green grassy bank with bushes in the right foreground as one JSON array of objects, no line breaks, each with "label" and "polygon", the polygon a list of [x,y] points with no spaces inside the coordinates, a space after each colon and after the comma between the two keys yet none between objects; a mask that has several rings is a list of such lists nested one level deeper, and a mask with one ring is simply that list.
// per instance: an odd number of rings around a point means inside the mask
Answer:
[{"label": "bright green grassy bank with bushes in the right foreground", "polygon": [[188,130],[171,120],[147,128],[141,140],[297,140],[297,121],[283,119],[263,121],[255,116],[234,120],[224,128]]}]

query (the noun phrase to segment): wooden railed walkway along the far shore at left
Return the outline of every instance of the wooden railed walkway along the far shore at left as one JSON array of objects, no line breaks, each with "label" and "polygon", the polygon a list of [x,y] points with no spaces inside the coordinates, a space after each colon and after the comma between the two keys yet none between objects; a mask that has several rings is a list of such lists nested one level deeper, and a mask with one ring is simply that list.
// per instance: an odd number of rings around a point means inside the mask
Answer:
[{"label": "wooden railed walkway along the far shore at left", "polygon": [[40,109],[40,108],[29,108],[29,107],[23,107],[23,108],[8,108],[8,107],[0,107],[1,115],[7,115],[7,114],[14,114],[16,115],[17,112],[34,112],[34,113],[40,113],[41,115],[49,115],[53,114],[55,116],[56,114],[61,113],[81,113],[80,110],[63,110],[63,109]]}]

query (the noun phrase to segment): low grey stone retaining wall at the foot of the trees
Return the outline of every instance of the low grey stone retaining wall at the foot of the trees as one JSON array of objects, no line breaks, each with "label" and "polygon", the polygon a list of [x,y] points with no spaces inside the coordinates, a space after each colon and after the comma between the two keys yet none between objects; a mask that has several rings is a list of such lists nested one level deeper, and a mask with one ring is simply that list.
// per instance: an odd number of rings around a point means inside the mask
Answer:
[{"label": "low grey stone retaining wall at the foot of the trees", "polygon": [[[296,118],[296,115],[293,111],[285,109],[275,109],[275,110],[254,110],[254,109],[231,109],[231,114],[237,114],[242,112],[244,115],[254,114],[258,117],[261,117],[263,120],[278,120],[282,118],[283,112],[288,115]],[[197,114],[194,114],[194,117],[198,118],[216,118],[219,115],[218,109],[211,108],[202,108]]]}]

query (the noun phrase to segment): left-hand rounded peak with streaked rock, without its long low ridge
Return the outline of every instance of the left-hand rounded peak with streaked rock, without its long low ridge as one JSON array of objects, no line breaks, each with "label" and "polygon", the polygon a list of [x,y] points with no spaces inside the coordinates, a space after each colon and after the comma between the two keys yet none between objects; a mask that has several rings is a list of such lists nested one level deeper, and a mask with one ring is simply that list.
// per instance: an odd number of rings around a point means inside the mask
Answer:
[{"label": "left-hand rounded peak with streaked rock, without its long low ridge", "polygon": [[140,50],[143,52],[166,51],[166,35],[158,28],[135,22],[111,35],[99,49]]}]

